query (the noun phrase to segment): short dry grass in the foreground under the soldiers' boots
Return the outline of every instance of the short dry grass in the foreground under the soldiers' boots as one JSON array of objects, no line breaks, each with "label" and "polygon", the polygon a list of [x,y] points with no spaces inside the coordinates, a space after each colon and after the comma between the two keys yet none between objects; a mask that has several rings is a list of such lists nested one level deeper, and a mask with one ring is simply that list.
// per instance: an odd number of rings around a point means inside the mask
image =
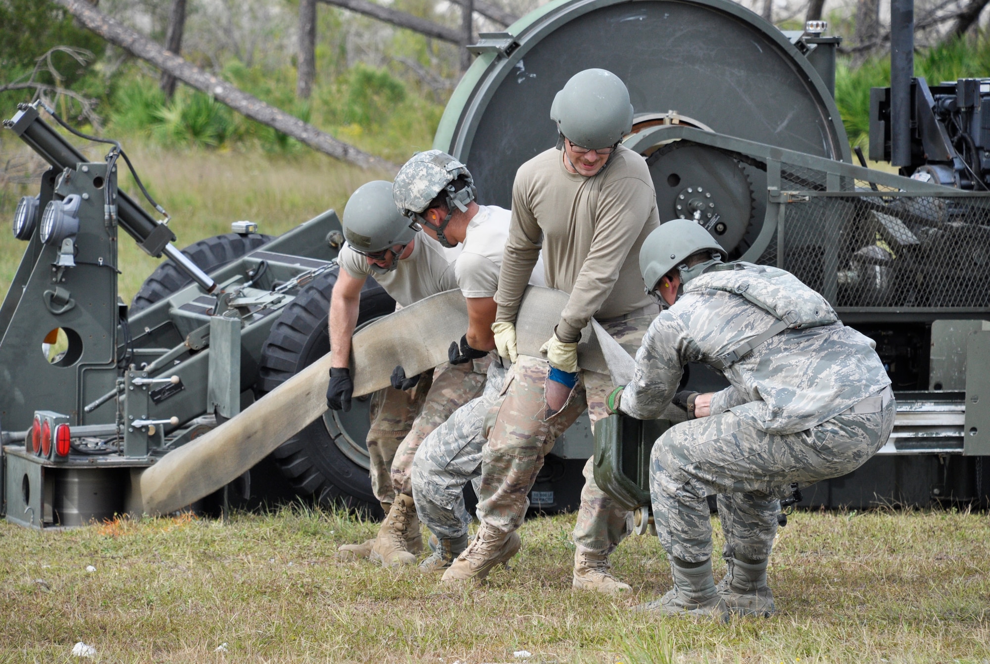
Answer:
[{"label": "short dry grass in the foreground under the soldiers' boots", "polygon": [[339,544],[374,529],[341,514],[4,523],[0,659],[65,661],[80,640],[105,662],[452,664],[520,661],[522,649],[531,662],[610,664],[990,659],[985,515],[796,514],[770,571],[778,614],[728,624],[630,611],[670,586],[652,537],[614,556],[632,598],[571,592],[572,526],[527,522],[512,570],[451,591],[409,569],[338,563]]}]

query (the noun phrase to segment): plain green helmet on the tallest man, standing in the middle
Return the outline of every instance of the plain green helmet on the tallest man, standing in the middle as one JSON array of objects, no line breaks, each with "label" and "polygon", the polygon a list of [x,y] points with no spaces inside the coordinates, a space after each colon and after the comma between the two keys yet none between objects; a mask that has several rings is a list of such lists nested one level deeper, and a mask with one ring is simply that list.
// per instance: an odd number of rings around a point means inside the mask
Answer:
[{"label": "plain green helmet on the tallest man, standing in the middle", "polygon": [[[578,71],[553,97],[550,120],[568,141],[588,149],[611,147],[633,131],[633,105],[622,79],[606,69]],[[558,143],[561,147],[563,141]]]}]

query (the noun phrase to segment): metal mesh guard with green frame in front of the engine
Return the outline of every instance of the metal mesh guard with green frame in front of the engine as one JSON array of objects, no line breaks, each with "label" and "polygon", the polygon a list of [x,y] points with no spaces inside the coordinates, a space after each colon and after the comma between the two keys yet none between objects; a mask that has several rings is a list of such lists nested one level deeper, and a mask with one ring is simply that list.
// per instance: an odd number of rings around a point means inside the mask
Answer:
[{"label": "metal mesh guard with green frame in front of the engine", "polygon": [[990,192],[689,128],[656,128],[629,146],[670,140],[766,173],[766,216],[743,260],[791,272],[840,315],[990,313]]}]

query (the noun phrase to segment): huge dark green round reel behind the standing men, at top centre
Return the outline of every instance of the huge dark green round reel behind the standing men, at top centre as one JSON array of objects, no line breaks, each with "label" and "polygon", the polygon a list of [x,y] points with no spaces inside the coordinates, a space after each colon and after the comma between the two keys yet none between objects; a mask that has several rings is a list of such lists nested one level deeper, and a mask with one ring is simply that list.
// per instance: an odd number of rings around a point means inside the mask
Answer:
[{"label": "huge dark green round reel behind the standing men, at top centre", "polygon": [[[730,0],[554,2],[472,49],[478,57],[447,104],[434,147],[467,164],[481,203],[511,205],[516,169],[556,142],[553,95],[589,67],[613,71],[626,83],[637,114],[634,132],[678,122],[850,160],[822,77],[779,30]],[[762,223],[765,173],[700,145],[652,146],[644,153],[656,155],[650,166],[661,218],[678,216],[669,194],[690,201],[698,186],[711,198],[721,188],[723,202],[715,210],[723,208],[726,230],[720,241],[741,255]],[[717,164],[707,173],[706,161]],[[690,171],[691,183],[666,191],[672,188],[667,171],[677,169]],[[755,194],[748,210],[743,182]],[[710,211],[703,221],[710,221]]]}]

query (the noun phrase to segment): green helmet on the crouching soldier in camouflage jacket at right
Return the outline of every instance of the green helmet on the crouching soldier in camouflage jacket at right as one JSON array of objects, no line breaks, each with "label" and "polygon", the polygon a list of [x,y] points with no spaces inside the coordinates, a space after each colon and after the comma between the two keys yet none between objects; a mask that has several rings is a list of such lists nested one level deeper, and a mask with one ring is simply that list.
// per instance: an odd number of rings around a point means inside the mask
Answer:
[{"label": "green helmet on the crouching soldier in camouflage jacket at right", "polygon": [[[712,250],[711,260],[692,267],[684,264],[688,256],[705,249]],[[640,248],[640,272],[646,293],[652,293],[663,275],[675,267],[680,271],[683,285],[714,263],[721,263],[727,255],[715,237],[693,219],[675,219],[661,224],[646,236]]]}]

